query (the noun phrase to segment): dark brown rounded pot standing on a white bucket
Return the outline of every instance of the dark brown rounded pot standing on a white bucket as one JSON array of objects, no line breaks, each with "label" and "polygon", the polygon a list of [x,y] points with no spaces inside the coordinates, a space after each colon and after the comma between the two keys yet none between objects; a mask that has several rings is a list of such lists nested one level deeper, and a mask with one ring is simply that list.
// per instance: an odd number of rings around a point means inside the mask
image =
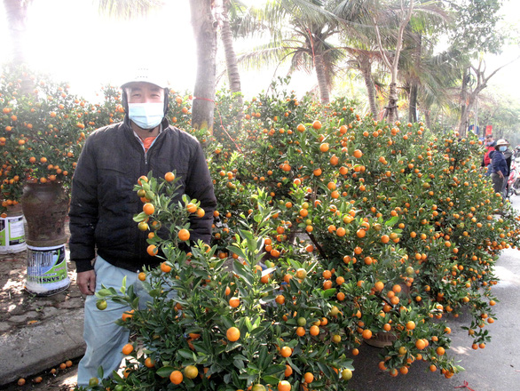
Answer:
[{"label": "dark brown rounded pot standing on a white bucket", "polygon": [[67,242],[68,204],[69,197],[59,182],[26,184],[21,207],[28,223],[28,245],[50,247]]}]

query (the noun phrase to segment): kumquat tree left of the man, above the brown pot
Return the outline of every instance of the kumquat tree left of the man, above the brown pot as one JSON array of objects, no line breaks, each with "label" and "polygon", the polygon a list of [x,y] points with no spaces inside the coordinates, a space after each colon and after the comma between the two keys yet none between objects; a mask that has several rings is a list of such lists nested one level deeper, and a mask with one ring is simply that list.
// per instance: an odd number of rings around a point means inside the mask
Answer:
[{"label": "kumquat tree left of the man, above the brown pot", "polygon": [[25,68],[3,69],[0,211],[20,202],[28,181],[70,186],[87,135],[122,119],[120,92],[106,87],[103,94],[103,103],[91,104],[48,76]]}]

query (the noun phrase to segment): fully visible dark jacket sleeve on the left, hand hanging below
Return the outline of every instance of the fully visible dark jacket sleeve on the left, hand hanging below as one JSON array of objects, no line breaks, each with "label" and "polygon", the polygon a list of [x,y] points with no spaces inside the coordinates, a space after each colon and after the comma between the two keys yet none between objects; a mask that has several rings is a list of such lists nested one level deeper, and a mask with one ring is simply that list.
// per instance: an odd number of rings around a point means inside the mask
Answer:
[{"label": "fully visible dark jacket sleeve on the left, hand hanging below", "polygon": [[95,230],[98,223],[98,174],[94,156],[93,138],[83,146],[72,180],[70,210],[70,259],[77,272],[91,270],[95,258]]}]

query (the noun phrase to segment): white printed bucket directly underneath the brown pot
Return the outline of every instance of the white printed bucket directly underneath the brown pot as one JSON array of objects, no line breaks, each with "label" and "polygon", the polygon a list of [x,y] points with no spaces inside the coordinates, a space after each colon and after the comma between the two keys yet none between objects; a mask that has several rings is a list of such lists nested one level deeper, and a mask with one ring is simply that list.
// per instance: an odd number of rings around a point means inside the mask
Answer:
[{"label": "white printed bucket directly underneath the brown pot", "polygon": [[28,276],[25,289],[38,296],[50,296],[70,285],[65,244],[52,247],[28,245]]}]

